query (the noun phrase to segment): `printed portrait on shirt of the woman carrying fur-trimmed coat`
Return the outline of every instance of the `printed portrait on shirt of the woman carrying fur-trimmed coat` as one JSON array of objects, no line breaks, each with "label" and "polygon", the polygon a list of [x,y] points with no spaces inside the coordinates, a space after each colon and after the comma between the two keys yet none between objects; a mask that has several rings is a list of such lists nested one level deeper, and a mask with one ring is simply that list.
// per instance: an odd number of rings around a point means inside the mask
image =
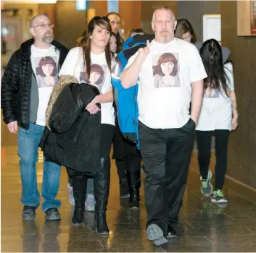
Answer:
[{"label": "printed portrait on shirt of the woman carrying fur-trimmed coat", "polygon": [[[102,86],[106,79],[106,65],[91,64],[90,80],[88,80],[87,72],[80,72],[80,82],[88,82],[90,85],[98,87],[102,93]],[[86,70],[86,68],[85,68]]]}]

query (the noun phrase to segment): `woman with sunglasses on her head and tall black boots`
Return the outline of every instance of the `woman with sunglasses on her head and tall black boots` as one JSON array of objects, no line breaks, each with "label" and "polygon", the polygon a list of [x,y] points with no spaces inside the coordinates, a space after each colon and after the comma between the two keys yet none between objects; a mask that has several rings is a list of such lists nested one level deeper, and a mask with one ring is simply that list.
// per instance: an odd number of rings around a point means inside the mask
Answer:
[{"label": "woman with sunglasses on her head and tall black boots", "polygon": [[[108,234],[109,229],[106,222],[107,202],[110,191],[110,148],[115,132],[115,115],[113,108],[113,96],[110,72],[114,64],[114,54],[110,51],[111,26],[107,17],[94,17],[88,23],[86,46],[73,48],[67,55],[59,75],[73,75],[79,82],[80,77],[86,77],[91,85],[99,88],[100,95],[97,95],[86,110],[93,116],[101,113],[101,143],[99,153],[99,166],[94,176],[94,196],[96,231],[101,234]],[[90,82],[92,65],[99,65],[101,72],[101,84],[96,85]],[[99,105],[100,104],[100,108]],[[93,143],[94,140],[91,140]],[[84,154],[86,156],[86,153]],[[87,154],[89,156],[89,154]],[[67,168],[67,173],[72,179],[73,193],[75,198],[75,212],[73,223],[83,223],[84,202],[86,200],[86,168],[84,171],[77,171],[75,168]]]}]

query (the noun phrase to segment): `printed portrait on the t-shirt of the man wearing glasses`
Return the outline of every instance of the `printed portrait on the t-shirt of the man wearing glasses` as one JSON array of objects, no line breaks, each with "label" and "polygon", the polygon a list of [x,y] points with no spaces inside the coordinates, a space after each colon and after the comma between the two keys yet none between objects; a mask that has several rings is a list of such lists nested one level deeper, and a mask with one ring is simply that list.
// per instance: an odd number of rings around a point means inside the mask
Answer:
[{"label": "printed portrait on the t-shirt of the man wearing glasses", "polygon": [[54,87],[58,82],[57,58],[54,56],[35,57],[36,81],[38,87]]}]

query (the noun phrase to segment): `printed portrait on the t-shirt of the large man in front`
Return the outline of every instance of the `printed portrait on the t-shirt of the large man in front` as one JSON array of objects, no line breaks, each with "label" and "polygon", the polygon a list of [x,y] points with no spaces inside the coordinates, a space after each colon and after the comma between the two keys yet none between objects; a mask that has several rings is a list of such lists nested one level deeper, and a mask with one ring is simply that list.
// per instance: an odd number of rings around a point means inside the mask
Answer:
[{"label": "printed portrait on the t-shirt of the large man in front", "polygon": [[178,53],[155,54],[152,58],[154,87],[181,87]]}]

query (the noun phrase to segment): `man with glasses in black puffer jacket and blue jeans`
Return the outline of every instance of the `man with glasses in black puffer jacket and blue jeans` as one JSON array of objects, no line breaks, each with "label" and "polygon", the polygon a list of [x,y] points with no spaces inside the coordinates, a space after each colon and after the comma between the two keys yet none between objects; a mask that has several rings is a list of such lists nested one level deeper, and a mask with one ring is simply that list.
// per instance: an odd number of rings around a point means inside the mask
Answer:
[{"label": "man with glasses in black puffer jacket and blue jeans", "polygon": [[[51,91],[68,50],[53,40],[53,24],[46,14],[30,20],[33,38],[13,53],[5,69],[1,86],[1,108],[4,122],[11,133],[18,132],[18,155],[22,181],[22,220],[34,220],[40,204],[36,163],[38,145],[44,132],[45,113]],[[18,131],[18,126],[20,127]],[[41,209],[46,220],[60,220],[60,166],[44,158]]]}]

